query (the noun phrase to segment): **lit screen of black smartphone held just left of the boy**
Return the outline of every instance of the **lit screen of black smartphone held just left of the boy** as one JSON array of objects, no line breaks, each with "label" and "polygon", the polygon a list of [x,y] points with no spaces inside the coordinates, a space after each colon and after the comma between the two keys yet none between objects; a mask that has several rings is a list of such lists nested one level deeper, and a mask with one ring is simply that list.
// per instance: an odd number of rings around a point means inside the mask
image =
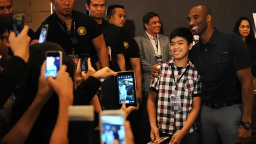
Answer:
[{"label": "lit screen of black smartphone held just left of the boy", "polygon": [[119,105],[122,105],[123,100],[126,104],[135,104],[133,74],[117,75],[116,78],[119,92]]}]

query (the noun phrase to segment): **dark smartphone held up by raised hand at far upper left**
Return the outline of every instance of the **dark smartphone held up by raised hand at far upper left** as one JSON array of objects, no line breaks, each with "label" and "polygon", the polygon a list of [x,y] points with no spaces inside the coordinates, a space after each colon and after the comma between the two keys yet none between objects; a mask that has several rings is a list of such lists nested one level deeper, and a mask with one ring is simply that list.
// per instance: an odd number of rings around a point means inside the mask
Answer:
[{"label": "dark smartphone held up by raised hand at far upper left", "polygon": [[24,28],[25,15],[15,14],[12,17],[11,31],[13,31],[17,36],[20,34],[21,30]]}]

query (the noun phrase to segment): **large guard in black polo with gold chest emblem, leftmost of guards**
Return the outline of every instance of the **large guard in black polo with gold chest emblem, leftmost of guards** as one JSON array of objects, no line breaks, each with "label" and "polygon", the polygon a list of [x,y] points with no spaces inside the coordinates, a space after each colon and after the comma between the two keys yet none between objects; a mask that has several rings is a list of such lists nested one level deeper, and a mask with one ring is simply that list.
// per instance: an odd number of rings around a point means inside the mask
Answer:
[{"label": "large guard in black polo with gold chest emblem, leftmost of guards", "polygon": [[[88,15],[74,11],[74,0],[65,3],[52,0],[51,3],[55,12],[42,23],[49,25],[46,41],[59,44],[67,54],[89,54],[93,64],[96,58],[92,58],[95,57],[92,42],[101,68],[108,67],[107,47],[97,23]],[[40,32],[41,27],[37,29],[37,38]]]}]

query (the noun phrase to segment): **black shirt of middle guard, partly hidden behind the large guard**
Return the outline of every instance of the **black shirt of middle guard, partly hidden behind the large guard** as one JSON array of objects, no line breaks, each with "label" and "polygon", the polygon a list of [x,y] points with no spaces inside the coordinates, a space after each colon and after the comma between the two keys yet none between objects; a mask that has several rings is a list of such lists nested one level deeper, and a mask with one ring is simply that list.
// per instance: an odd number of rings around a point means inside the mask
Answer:
[{"label": "black shirt of middle guard, partly hidden behind the large guard", "polygon": [[117,62],[117,54],[124,54],[125,47],[122,41],[120,29],[111,23],[107,23],[103,28],[103,36],[105,38],[107,47],[111,47],[112,60],[109,61],[110,68],[114,71],[121,71]]}]

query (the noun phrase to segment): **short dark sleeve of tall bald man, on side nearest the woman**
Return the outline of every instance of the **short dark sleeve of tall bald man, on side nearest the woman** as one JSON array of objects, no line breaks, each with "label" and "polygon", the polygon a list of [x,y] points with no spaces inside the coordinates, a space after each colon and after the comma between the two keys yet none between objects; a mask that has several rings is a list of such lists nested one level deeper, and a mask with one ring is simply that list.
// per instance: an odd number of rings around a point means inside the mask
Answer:
[{"label": "short dark sleeve of tall bald man, on side nearest the woman", "polygon": [[243,39],[238,35],[230,37],[231,60],[235,71],[251,66],[249,54],[244,45]]}]

